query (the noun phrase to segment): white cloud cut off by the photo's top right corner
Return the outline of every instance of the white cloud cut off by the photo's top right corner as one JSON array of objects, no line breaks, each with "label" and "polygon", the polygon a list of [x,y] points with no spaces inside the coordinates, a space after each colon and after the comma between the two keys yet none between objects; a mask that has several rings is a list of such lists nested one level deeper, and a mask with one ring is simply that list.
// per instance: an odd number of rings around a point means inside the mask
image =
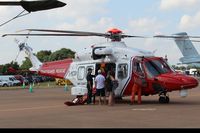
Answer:
[{"label": "white cloud cut off by the photo's top right corner", "polygon": [[161,0],[160,9],[193,9],[194,7],[199,6],[199,4],[199,0]]}]

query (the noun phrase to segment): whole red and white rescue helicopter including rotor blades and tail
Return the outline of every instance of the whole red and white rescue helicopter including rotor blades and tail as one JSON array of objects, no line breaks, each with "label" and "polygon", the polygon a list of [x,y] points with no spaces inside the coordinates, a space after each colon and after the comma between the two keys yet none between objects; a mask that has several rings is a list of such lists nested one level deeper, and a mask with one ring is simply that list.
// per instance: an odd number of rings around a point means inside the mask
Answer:
[{"label": "whole red and white rescue helicopter including rotor blades and tail", "polygon": [[95,70],[93,74],[96,74],[102,64],[106,72],[111,68],[115,72],[115,79],[119,82],[115,90],[115,96],[118,98],[131,95],[134,79],[145,81],[143,96],[158,94],[160,103],[169,103],[168,92],[180,91],[181,96],[187,96],[187,90],[199,84],[194,77],[176,73],[164,58],[154,56],[153,52],[127,47],[121,41],[124,38],[143,38],[142,36],[125,35],[118,29],[111,29],[107,33],[44,29],[26,31],[29,33],[3,36],[99,36],[111,40],[76,53],[74,59],[47,63],[40,62],[26,43],[20,43],[20,51],[25,51],[32,62],[33,67],[30,70],[44,76],[69,79],[74,85],[72,95],[80,96],[87,93],[85,78],[87,70],[92,68]]}]

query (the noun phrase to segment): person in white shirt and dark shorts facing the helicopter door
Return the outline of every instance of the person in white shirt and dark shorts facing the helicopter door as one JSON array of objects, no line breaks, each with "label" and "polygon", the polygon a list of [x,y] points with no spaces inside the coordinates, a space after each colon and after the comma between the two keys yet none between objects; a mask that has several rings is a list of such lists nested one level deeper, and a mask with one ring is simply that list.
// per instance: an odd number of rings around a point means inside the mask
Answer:
[{"label": "person in white shirt and dark shorts facing the helicopter door", "polygon": [[101,70],[98,70],[98,75],[95,78],[95,87],[97,89],[96,95],[99,96],[99,105],[102,104],[101,97],[104,99],[104,104],[106,104],[105,96],[105,77],[102,75]]}]

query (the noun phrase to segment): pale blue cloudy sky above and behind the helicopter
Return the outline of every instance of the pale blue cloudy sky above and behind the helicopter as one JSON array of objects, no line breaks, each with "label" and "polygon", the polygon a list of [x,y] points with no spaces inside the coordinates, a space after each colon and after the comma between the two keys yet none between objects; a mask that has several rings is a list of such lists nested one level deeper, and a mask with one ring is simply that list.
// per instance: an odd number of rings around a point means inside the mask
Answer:
[{"label": "pale blue cloudy sky above and behind the helicopter", "polygon": [[[12,0],[11,0],[12,1]],[[0,34],[14,33],[26,28],[62,29],[106,32],[116,27],[131,35],[153,36],[158,33],[188,32],[200,35],[199,0],[61,0],[63,8],[34,12],[0,27]],[[21,7],[0,7],[0,23],[21,12]],[[18,37],[24,40],[23,37]],[[94,43],[105,42],[98,37],[32,37],[28,40],[34,52],[56,51],[70,48],[76,52]],[[172,40],[125,39],[128,46],[144,50],[157,50],[156,56],[168,55],[170,64],[177,64],[182,57]],[[0,38],[0,64],[15,60],[18,52],[14,37]],[[200,50],[200,45],[195,44]],[[20,53],[17,61],[25,59]]]}]

